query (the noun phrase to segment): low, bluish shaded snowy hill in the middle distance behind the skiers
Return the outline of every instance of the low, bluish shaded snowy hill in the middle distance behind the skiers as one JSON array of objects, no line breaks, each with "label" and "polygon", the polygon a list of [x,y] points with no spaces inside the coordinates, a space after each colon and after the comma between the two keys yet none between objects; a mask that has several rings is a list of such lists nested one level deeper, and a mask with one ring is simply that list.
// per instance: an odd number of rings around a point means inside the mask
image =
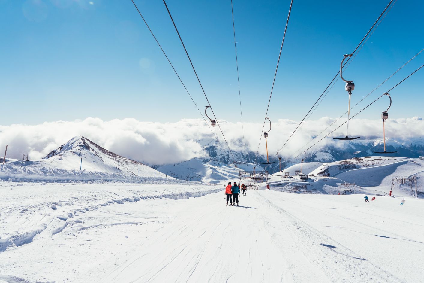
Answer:
[{"label": "low, bluish shaded snowy hill in the middle distance behind the skiers", "polygon": [[[176,179],[219,183],[229,179],[238,179],[240,171],[253,171],[253,167],[252,163],[235,162],[226,164],[215,160],[203,162],[192,158],[181,163],[159,166],[157,170]],[[256,165],[255,170],[262,171],[263,168]]]}]

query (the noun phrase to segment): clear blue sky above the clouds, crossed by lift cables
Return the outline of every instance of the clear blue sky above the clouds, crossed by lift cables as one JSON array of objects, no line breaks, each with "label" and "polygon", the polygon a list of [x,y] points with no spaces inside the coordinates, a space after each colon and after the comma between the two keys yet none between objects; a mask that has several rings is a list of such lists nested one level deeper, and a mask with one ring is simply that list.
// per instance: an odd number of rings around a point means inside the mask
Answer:
[{"label": "clear blue sky above the clouds, crossed by lift cables", "polygon": [[[203,111],[206,100],[163,2],[135,2]],[[303,118],[343,54],[354,50],[388,2],[294,0],[271,120]],[[243,118],[262,122],[290,1],[233,3]],[[240,121],[230,0],[168,0],[167,5],[218,119]],[[344,73],[356,85],[353,104],[424,48],[423,10],[423,1],[394,4]],[[0,25],[2,125],[200,117],[131,0],[0,0]],[[423,62],[424,52],[361,105]],[[423,79],[420,70],[391,92],[390,118],[422,116]],[[357,117],[378,119],[386,102]],[[339,80],[311,119],[337,118],[346,108]]]}]

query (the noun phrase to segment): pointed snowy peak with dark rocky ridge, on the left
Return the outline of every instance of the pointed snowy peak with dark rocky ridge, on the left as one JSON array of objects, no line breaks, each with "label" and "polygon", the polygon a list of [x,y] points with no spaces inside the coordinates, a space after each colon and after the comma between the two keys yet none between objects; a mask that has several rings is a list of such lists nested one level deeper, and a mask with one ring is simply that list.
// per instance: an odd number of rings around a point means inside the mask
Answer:
[{"label": "pointed snowy peak with dark rocky ridge, on the left", "polygon": [[[81,169],[80,169],[81,168]],[[41,160],[6,159],[0,179],[12,181],[128,181],[165,174],[76,136]]]}]

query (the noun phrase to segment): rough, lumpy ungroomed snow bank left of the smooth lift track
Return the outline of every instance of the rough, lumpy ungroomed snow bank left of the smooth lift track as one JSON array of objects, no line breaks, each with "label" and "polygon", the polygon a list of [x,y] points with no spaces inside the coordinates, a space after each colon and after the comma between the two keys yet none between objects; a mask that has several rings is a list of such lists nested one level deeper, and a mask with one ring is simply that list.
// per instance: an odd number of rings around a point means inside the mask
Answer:
[{"label": "rough, lumpy ungroomed snow bank left of the smooth lift track", "polygon": [[52,235],[59,233],[68,224],[79,223],[77,216],[108,205],[163,197],[187,199],[219,190],[164,178],[145,184],[0,182],[0,252],[30,243],[46,229]]}]

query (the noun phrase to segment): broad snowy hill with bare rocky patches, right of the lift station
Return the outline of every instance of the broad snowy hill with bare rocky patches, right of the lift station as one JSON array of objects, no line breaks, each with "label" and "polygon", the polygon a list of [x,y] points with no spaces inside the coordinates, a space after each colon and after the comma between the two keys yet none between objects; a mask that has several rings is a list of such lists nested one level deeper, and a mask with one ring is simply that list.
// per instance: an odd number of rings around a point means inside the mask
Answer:
[{"label": "broad snowy hill with bare rocky patches, right of the lift station", "polygon": [[[403,176],[416,177],[418,196],[424,194],[424,160],[413,158],[362,157],[324,163],[311,171],[306,180],[301,180],[299,176],[285,178],[277,175],[272,175],[271,189],[292,193],[387,195],[391,190],[392,179]],[[342,185],[346,182],[355,186]],[[395,181],[393,195],[412,196],[410,182]]]}]

